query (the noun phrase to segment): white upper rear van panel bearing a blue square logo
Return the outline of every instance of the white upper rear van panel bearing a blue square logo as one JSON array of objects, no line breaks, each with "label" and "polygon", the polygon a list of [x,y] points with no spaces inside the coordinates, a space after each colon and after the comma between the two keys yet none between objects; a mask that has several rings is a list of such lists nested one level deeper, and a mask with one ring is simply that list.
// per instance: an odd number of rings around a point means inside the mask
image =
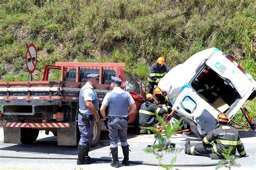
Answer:
[{"label": "white upper rear van panel bearing a blue square logo", "polygon": [[230,80],[241,97],[244,97],[247,91],[251,90],[253,82],[220,52],[214,51],[206,61],[206,65],[220,76]]}]

